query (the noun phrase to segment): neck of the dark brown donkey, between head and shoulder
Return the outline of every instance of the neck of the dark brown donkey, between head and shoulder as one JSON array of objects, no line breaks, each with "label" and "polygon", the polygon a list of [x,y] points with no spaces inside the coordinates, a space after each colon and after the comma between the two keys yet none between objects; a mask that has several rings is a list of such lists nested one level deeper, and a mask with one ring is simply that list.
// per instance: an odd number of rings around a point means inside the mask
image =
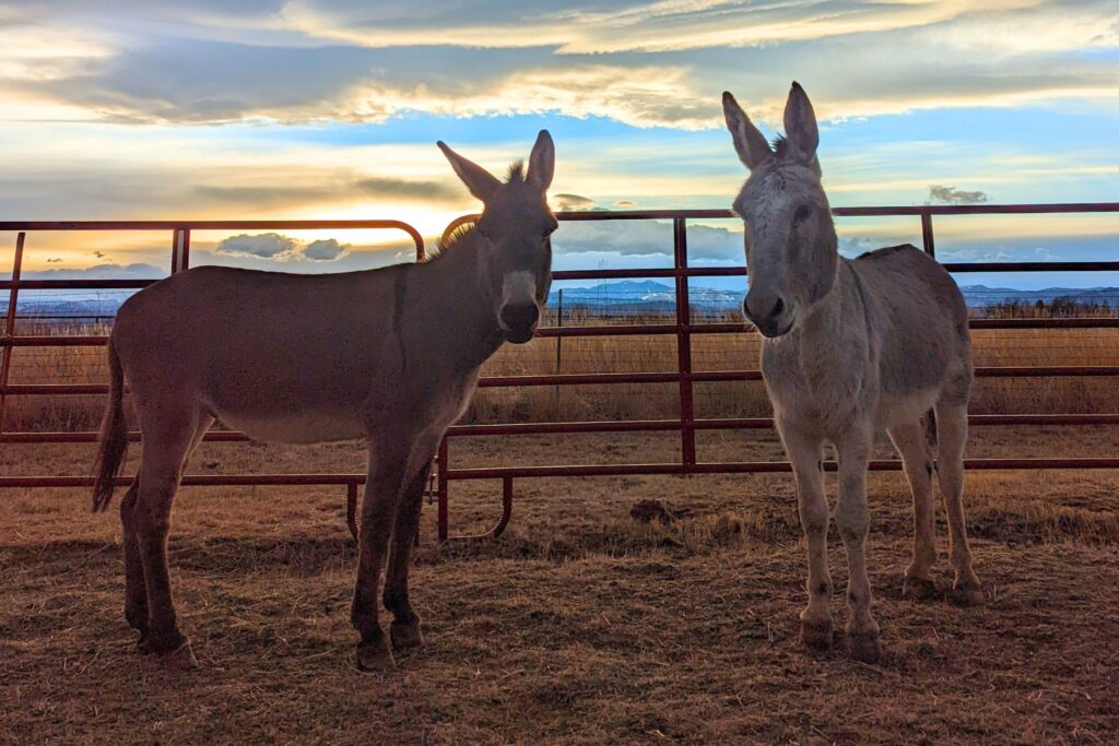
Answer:
[{"label": "neck of the dark brown donkey, between head and shoulder", "polygon": [[442,340],[442,359],[463,372],[486,362],[505,341],[483,285],[481,240],[477,233],[467,233],[445,255],[416,267],[427,291],[430,318],[439,327],[432,331]]}]

